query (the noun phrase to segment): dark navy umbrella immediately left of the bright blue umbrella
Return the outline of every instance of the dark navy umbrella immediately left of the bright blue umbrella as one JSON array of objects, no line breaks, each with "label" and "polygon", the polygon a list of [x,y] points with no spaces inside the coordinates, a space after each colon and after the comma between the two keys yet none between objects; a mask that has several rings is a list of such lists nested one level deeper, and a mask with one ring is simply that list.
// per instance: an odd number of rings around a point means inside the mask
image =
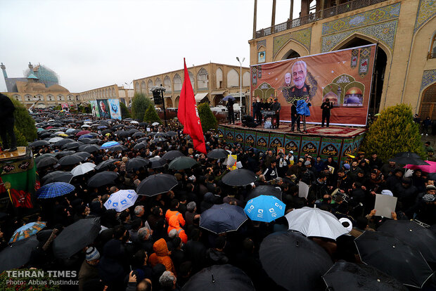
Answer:
[{"label": "dark navy umbrella immediately left of the bright blue umbrella", "polygon": [[200,215],[200,227],[212,233],[237,231],[247,220],[244,209],[227,203],[213,205]]}]

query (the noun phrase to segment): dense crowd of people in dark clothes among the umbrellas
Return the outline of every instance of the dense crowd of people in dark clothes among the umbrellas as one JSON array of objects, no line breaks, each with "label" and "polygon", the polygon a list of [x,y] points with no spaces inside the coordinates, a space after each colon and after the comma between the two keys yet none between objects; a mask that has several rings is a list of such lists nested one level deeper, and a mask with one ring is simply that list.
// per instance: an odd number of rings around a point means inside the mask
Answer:
[{"label": "dense crowd of people in dark clothes among the umbrellas", "polygon": [[[258,114],[256,117],[262,118]],[[37,233],[39,247],[25,265],[77,270],[79,290],[180,290],[195,273],[217,264],[232,264],[242,269],[256,290],[283,290],[262,268],[259,245],[267,235],[288,230],[284,216],[269,224],[248,219],[238,231],[220,235],[199,227],[200,215],[213,205],[229,203],[244,207],[250,191],[263,185],[281,190],[286,213],[316,205],[338,219],[345,218],[342,221],[349,234],[337,240],[314,240],[333,261],[344,259],[361,263],[353,239],[364,231],[376,230],[387,219],[374,210],[376,193],[398,198],[393,219],[417,219],[423,224],[436,224],[436,186],[432,177],[419,169],[406,177],[402,166],[395,162],[383,163],[377,153],[359,152],[357,157],[350,155],[345,164],[338,164],[332,157],[327,160],[310,155],[297,157],[292,151],[283,154],[271,149],[262,153],[238,143],[227,144],[222,136],[207,131],[204,133],[207,152],[216,148],[228,150],[229,154],[237,156],[244,169],[252,170],[257,176],[257,181],[248,186],[231,187],[222,182],[222,177],[230,171],[224,159],[212,159],[193,150],[192,141],[183,134],[177,121],[163,127],[110,120],[108,129],[115,126],[117,129],[102,133],[97,128],[101,120],[93,117],[53,117],[53,112],[39,112],[37,118],[40,119],[38,126],[44,128],[50,124],[49,119],[54,119],[62,124],[63,128],[58,130],[80,129],[84,119],[89,118],[96,126],[90,124],[88,130],[98,135],[99,145],[117,141],[126,147],[119,151],[96,150],[83,161],[101,164],[119,159],[104,169],[118,174],[114,183],[90,188],[86,182],[96,174],[94,170],[74,176],[70,184],[75,190],[70,194],[38,203],[38,220],[47,222],[46,229],[58,232],[79,219],[101,218],[101,232],[94,243],[66,260],[53,255],[50,232],[48,235],[47,232]],[[115,131],[119,129],[138,129],[148,137],[117,136]],[[153,133],[167,131],[177,134],[166,136],[162,141],[153,138]],[[72,138],[77,139],[77,136]],[[138,143],[144,146],[136,150],[134,146]],[[51,144],[32,150],[37,158],[46,153],[58,153],[63,147]],[[154,169],[126,169],[127,161],[134,157],[162,157],[169,150],[179,150],[198,164],[180,171],[168,169],[167,164]],[[53,171],[69,172],[76,165],[42,167],[38,169],[39,179],[44,181],[44,176]],[[140,195],[132,207],[122,212],[103,206],[111,194],[122,189],[135,190],[143,179],[158,173],[174,175],[177,186],[153,197]],[[299,195],[300,181],[309,185],[307,198]],[[15,216],[1,225],[1,249],[6,247],[13,231],[25,222]],[[434,284],[434,278],[428,284]]]}]

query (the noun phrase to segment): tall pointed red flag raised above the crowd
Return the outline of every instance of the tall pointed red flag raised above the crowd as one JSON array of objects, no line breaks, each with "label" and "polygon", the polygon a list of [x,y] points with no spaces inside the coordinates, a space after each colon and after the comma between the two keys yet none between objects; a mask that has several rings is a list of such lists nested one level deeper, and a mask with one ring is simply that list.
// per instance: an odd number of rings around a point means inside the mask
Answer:
[{"label": "tall pointed red flag raised above the crowd", "polygon": [[191,80],[189,79],[185,58],[184,66],[185,79],[181,87],[177,117],[181,124],[184,125],[184,133],[191,136],[194,142],[194,149],[201,153],[206,153],[205,137],[203,136],[203,129],[201,127],[197,105],[195,104],[194,91],[192,89]]}]

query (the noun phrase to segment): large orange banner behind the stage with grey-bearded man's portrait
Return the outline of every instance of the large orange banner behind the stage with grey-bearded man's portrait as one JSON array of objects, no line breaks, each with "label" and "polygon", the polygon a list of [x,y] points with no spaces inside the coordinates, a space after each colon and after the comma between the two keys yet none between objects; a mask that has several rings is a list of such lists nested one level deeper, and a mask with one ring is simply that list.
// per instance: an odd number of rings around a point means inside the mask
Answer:
[{"label": "large orange banner behind the stage with grey-bearded man's portrait", "polygon": [[333,103],[331,124],[366,126],[376,44],[251,66],[252,100],[278,98],[280,119],[291,103],[311,103],[308,123],[321,123],[321,104]]}]

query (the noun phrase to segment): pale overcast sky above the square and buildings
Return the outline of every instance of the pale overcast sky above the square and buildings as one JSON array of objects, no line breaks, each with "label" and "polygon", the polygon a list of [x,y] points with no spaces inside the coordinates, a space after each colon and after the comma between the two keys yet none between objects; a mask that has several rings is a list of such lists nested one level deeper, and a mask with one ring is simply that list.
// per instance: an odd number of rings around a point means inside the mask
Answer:
[{"label": "pale overcast sky above the square and buildings", "polygon": [[[257,1],[257,30],[272,0]],[[289,17],[278,0],[276,24]],[[70,92],[128,84],[186,65],[249,64],[254,0],[0,0],[0,62],[8,77],[27,64],[55,70]],[[294,18],[300,12],[295,4]],[[6,91],[3,77],[0,91]],[[133,88],[133,86],[131,86]]]}]

